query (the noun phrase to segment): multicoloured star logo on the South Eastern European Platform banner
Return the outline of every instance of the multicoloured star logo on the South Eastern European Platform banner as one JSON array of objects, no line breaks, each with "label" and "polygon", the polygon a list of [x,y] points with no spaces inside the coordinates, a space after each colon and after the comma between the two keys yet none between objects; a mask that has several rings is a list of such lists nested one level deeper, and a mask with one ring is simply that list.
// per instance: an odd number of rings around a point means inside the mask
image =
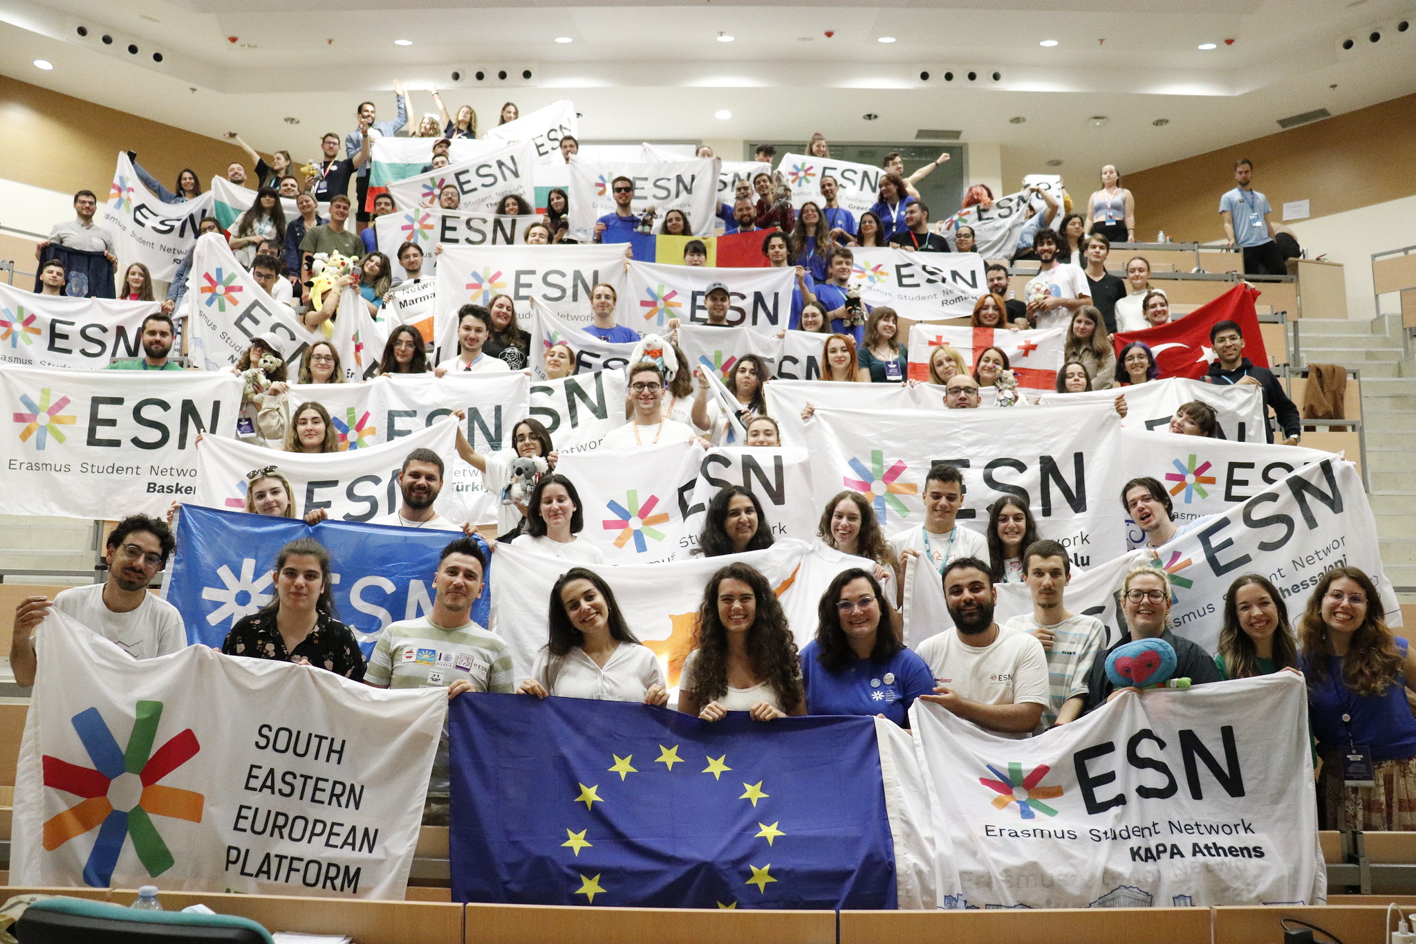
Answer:
[{"label": "multicoloured star logo on the South Eastern European Platform banner", "polygon": [[156,877],[173,868],[173,853],[153,825],[153,814],[201,822],[207,800],[202,794],[159,783],[195,757],[201,744],[188,727],[154,752],[161,718],[161,702],[137,702],[125,750],[98,709],[89,708],[69,720],[93,767],[44,756],[44,785],[84,798],[44,824],[44,849],[54,852],[69,839],[98,829],[84,866],[84,882],[92,887],[110,883],[127,836],[133,838],[133,851],[147,875]]}]

